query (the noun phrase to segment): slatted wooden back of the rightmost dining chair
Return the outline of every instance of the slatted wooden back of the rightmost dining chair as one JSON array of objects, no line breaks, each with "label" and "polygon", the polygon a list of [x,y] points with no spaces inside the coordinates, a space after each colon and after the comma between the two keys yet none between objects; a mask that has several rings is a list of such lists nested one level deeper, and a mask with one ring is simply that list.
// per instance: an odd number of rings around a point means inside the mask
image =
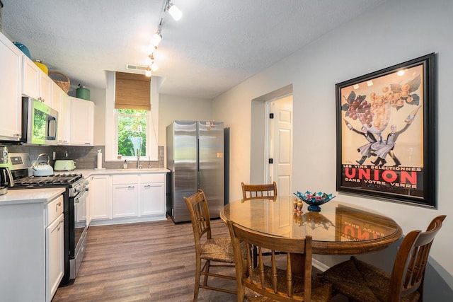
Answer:
[{"label": "slatted wooden back of the rightmost dining chair", "polygon": [[423,296],[423,280],[432,241],[445,217],[435,217],[425,232],[411,231],[403,239],[391,273],[389,302],[401,301],[403,296],[414,291],[419,291]]}]

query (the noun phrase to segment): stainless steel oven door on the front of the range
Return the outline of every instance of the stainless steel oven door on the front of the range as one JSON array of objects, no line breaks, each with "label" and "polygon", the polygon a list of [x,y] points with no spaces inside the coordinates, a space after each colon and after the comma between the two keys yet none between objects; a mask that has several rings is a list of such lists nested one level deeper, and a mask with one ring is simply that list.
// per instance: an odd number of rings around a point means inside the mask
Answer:
[{"label": "stainless steel oven door on the front of the range", "polygon": [[72,198],[74,201],[74,259],[69,260],[71,267],[70,279],[75,279],[82,260],[85,255],[86,231],[88,225],[86,221],[86,199],[88,197],[88,188],[79,192]]}]

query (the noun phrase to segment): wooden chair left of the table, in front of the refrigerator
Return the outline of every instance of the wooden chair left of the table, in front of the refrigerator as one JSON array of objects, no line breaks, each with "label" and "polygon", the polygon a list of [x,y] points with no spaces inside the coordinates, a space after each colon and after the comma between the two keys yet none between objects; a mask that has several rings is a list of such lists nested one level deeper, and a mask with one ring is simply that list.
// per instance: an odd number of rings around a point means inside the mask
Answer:
[{"label": "wooden chair left of the table, in front of the refrigerator", "polygon": [[[193,236],[195,238],[196,265],[193,301],[197,301],[199,289],[210,289],[236,294],[236,291],[234,290],[207,285],[208,277],[231,280],[236,279],[234,274],[228,276],[210,272],[211,267],[234,267],[234,254],[231,245],[231,238],[228,236],[217,238],[212,237],[210,211],[207,207],[205,192],[200,189],[197,193],[191,195],[190,197],[184,197],[184,200],[190,213]],[[202,263],[203,261],[204,264]],[[214,264],[211,262],[214,262]],[[200,283],[202,275],[204,276],[204,279],[202,283]]]}]

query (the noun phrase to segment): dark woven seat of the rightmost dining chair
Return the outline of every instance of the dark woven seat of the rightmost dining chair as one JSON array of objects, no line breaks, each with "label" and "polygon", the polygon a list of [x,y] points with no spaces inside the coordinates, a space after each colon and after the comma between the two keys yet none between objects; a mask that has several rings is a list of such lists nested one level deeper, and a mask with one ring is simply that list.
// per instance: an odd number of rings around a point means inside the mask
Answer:
[{"label": "dark woven seat of the rightmost dining chair", "polygon": [[[388,301],[390,274],[379,267],[351,257],[323,273],[323,279],[332,284],[333,289],[355,301],[384,302]],[[419,301],[420,293],[413,292],[404,296],[401,301]]]}]

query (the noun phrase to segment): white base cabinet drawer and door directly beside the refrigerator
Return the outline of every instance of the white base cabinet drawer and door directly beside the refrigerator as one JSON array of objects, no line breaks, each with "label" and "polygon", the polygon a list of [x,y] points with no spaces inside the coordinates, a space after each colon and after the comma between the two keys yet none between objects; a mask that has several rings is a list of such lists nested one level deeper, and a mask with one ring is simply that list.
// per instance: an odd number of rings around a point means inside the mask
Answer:
[{"label": "white base cabinet drawer and door directly beside the refrigerator", "polygon": [[140,216],[165,214],[165,174],[140,175]]}]

